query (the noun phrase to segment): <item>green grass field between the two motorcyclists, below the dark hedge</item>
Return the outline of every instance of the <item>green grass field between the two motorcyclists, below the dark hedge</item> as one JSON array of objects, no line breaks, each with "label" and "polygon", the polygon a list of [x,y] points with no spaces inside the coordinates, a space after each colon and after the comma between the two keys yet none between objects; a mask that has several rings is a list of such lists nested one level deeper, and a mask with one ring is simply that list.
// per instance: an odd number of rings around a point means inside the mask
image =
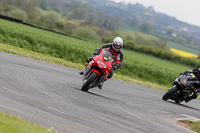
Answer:
[{"label": "green grass field between the two motorcyclists, below the dark hedge", "polygon": [[159,59],[147,54],[133,51],[125,51],[126,55],[122,67],[122,73],[126,71],[127,76],[139,78],[164,86],[171,86],[172,81],[185,70],[192,69],[190,66],[182,65],[168,60]]}]

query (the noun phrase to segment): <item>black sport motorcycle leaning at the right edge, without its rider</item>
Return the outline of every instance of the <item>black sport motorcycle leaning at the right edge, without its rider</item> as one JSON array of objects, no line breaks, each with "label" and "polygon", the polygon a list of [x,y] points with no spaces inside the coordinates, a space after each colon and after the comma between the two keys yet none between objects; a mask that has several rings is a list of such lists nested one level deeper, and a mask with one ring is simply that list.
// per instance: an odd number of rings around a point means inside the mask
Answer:
[{"label": "black sport motorcycle leaning at the right edge, without its rider", "polygon": [[185,101],[194,91],[199,91],[196,89],[191,82],[195,76],[191,73],[180,75],[173,82],[172,88],[170,88],[162,97],[164,101],[168,99],[174,100],[176,103],[181,103]]}]

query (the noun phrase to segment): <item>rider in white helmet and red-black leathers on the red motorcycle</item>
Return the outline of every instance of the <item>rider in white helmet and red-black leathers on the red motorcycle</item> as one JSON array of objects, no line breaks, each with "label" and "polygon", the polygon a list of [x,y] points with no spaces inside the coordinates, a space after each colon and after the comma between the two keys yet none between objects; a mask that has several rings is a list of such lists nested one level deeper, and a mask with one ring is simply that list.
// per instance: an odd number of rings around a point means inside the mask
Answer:
[{"label": "rider in white helmet and red-black leathers on the red motorcycle", "polygon": [[[124,57],[124,54],[121,50],[122,47],[123,47],[123,39],[121,37],[116,37],[113,40],[113,42],[104,44],[101,48],[97,48],[95,50],[95,52],[93,53],[93,57],[95,57],[96,55],[99,55],[101,51],[109,51],[110,53],[112,53],[113,58],[114,58],[114,63],[112,66],[112,71],[110,71],[110,73],[108,75],[109,79],[112,77],[114,71],[116,69],[120,68],[122,65],[122,61],[123,61],[123,57]],[[87,59],[87,63],[92,61],[93,57],[89,57]],[[79,72],[79,74],[83,75],[84,70]],[[104,82],[102,82],[100,85],[98,85],[99,89],[102,88],[103,83]]]}]

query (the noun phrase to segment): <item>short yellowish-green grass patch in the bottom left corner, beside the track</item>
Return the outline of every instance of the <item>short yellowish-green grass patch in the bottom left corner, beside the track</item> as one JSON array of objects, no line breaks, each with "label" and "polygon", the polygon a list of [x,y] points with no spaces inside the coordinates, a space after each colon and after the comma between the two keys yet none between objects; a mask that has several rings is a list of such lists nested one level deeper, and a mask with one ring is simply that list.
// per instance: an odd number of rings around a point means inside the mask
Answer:
[{"label": "short yellowish-green grass patch in the bottom left corner, beside the track", "polygon": [[0,133],[55,133],[55,131],[29,123],[17,116],[0,113]]}]

